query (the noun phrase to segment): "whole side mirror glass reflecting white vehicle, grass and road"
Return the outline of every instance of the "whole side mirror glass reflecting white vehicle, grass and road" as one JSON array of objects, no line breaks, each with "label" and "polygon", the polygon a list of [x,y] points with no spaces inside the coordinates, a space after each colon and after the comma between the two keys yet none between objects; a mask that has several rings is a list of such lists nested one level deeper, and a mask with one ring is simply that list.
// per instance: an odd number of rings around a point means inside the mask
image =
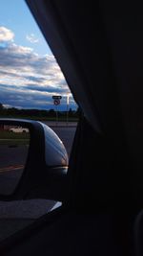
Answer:
[{"label": "whole side mirror glass reflecting white vehicle, grass and road", "polygon": [[0,195],[11,195],[27,163],[30,130],[0,125]]}]

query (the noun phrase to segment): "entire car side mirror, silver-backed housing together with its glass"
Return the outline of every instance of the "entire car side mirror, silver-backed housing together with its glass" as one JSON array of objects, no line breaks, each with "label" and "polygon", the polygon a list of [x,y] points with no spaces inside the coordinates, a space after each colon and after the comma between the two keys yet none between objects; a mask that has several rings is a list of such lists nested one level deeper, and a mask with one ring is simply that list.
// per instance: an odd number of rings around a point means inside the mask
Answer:
[{"label": "entire car side mirror, silver-backed housing together with its glass", "polygon": [[0,200],[64,197],[67,151],[47,125],[0,119]]}]

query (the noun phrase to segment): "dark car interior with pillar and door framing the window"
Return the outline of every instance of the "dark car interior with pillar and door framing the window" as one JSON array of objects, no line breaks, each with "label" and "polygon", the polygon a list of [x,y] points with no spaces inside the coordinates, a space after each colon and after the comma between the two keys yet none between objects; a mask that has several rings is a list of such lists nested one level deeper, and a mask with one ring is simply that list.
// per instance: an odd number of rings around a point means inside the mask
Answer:
[{"label": "dark car interior with pillar and door framing the window", "polygon": [[1,255],[141,256],[141,1],[26,2],[81,114],[62,206],[3,241]]}]

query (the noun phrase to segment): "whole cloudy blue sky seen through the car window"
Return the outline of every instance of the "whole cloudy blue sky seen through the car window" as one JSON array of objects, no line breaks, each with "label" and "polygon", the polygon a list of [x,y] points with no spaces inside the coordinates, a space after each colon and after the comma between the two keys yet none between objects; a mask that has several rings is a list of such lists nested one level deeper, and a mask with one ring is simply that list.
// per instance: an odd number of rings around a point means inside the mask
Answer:
[{"label": "whole cloudy blue sky seen through the car window", "polygon": [[0,0],[0,103],[5,107],[76,109],[71,91],[24,0]]}]

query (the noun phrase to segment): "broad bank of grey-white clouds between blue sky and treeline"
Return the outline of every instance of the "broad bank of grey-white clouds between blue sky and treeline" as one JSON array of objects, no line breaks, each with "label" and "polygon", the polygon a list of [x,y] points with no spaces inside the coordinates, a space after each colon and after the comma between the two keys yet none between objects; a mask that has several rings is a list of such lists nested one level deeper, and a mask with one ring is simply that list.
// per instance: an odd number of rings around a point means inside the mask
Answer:
[{"label": "broad bank of grey-white clouds between blue sky and treeline", "polygon": [[[0,103],[49,109],[53,107],[52,95],[58,94],[63,96],[60,107],[64,109],[65,95],[69,93],[67,82],[53,56],[40,56],[32,48],[16,45],[12,40],[0,46]],[[75,108],[72,94],[70,102]]]}]

